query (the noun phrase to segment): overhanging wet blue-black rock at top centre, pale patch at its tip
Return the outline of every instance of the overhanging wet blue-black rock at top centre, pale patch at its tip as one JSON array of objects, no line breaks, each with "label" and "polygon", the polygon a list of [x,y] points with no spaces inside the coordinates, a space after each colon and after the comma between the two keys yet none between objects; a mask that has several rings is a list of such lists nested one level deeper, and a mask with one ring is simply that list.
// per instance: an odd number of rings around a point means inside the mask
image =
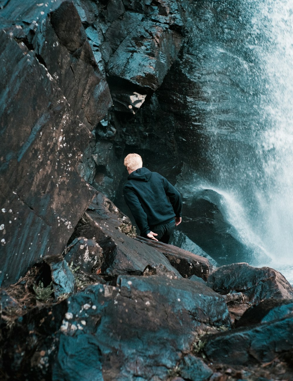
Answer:
[{"label": "overhanging wet blue-black rock at top centre, pale patch at its tip", "polygon": [[146,94],[162,84],[181,48],[181,6],[169,0],[74,3],[96,60],[109,76],[115,109],[135,113]]}]

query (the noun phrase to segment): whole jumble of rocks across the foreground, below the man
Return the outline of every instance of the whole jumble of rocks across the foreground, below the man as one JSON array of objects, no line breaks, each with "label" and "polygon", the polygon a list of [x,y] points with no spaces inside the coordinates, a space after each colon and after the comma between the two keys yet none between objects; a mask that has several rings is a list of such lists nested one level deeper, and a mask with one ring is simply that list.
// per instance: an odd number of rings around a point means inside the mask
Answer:
[{"label": "whole jumble of rocks across the foreground, below the man", "polygon": [[96,192],[66,250],[1,290],[1,376],[291,379],[293,288],[274,269],[136,237]]}]

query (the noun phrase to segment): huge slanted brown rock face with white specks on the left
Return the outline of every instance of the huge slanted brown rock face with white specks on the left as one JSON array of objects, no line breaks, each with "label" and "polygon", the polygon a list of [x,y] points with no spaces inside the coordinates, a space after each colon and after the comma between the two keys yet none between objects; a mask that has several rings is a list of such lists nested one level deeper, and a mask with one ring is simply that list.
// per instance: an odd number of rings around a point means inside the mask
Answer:
[{"label": "huge slanted brown rock face with white specks on the left", "polygon": [[62,253],[89,205],[80,160],[111,98],[71,2],[8,2],[0,16],[0,283],[9,284]]}]

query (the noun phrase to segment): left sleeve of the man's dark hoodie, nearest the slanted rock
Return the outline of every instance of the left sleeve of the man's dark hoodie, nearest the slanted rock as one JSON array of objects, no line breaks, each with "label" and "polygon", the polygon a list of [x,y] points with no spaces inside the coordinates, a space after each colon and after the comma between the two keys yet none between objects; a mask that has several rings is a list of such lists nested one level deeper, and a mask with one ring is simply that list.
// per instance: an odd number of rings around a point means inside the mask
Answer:
[{"label": "left sleeve of the man's dark hoodie, nearest the slanted rock", "polygon": [[147,223],[147,215],[146,212],[142,209],[141,203],[135,192],[127,190],[123,191],[125,202],[130,209],[136,225],[140,230],[140,234],[142,237],[146,237],[146,235],[151,231],[149,225]]}]

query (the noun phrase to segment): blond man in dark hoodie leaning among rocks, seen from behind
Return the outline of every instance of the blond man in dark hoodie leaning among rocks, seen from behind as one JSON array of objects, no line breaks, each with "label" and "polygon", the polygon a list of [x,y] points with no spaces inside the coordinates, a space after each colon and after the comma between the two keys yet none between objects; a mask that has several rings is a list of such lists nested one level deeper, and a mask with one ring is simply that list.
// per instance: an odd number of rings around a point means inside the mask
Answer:
[{"label": "blond man in dark hoodie leaning among rocks, seen from behind", "polygon": [[129,175],[124,199],[141,236],[168,243],[175,226],[181,223],[180,193],[159,173],[142,167],[140,155],[127,155],[124,165]]}]

